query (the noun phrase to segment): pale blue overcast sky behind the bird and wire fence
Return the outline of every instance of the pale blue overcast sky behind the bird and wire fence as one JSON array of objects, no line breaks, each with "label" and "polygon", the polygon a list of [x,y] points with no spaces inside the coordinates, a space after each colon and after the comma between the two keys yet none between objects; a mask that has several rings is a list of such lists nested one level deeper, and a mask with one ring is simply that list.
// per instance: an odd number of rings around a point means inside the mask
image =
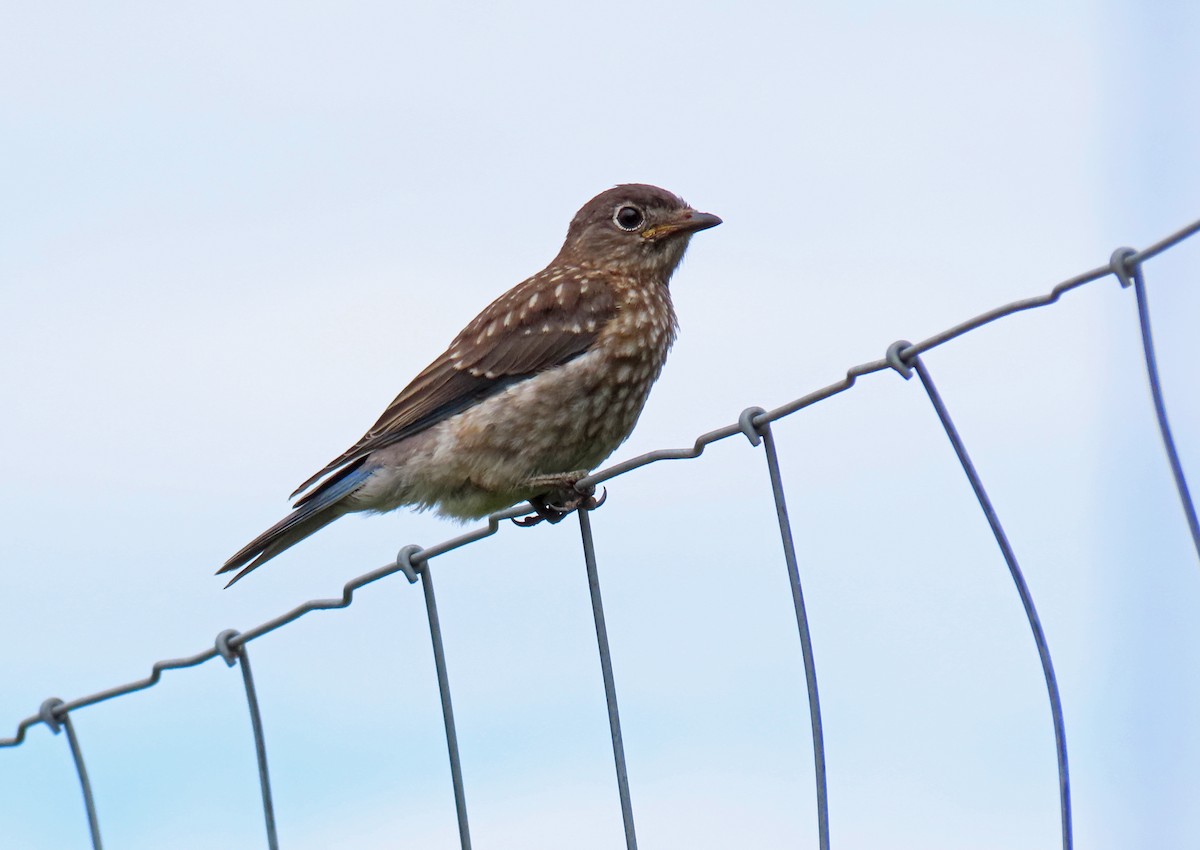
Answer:
[{"label": "pale blue overcast sky behind the bird and wire fence", "polygon": [[[725,220],[613,460],[689,445],[1200,216],[1200,11],[1133,2],[10,4],[0,10],[0,737],[461,527],[352,516],[223,591],[593,194]],[[1200,489],[1200,240],[1147,264]],[[1111,281],[926,355],[1039,606],[1078,845],[1200,844],[1200,562]],[[1055,848],[1045,688],[917,382],[775,433],[838,848]],[[593,515],[640,844],[815,846],[808,707],[761,449]],[[614,848],[572,521],[434,562],[478,848]],[[250,647],[283,846],[455,848],[420,591]],[[74,716],[106,845],[262,848],[220,662]],[[86,846],[66,742],[0,750],[0,844]]]}]

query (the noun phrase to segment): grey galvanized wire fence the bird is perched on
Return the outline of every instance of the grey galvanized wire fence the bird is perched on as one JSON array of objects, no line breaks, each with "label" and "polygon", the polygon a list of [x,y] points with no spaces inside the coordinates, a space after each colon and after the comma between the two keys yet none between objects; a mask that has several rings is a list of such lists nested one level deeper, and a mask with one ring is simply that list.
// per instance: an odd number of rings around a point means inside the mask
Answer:
[{"label": "grey galvanized wire fence the bird is perched on", "polygon": [[[1178,460],[1178,454],[1175,449],[1174,438],[1171,437],[1170,429],[1166,421],[1165,402],[1163,401],[1162,384],[1158,376],[1158,367],[1154,358],[1153,343],[1150,335],[1148,306],[1146,304],[1145,283],[1141,273],[1142,263],[1151,259],[1152,257],[1156,257],[1163,251],[1175,245],[1178,245],[1181,241],[1188,239],[1189,237],[1194,235],[1198,232],[1200,232],[1200,221],[1195,221],[1192,225],[1188,225],[1187,227],[1165,237],[1164,239],[1160,239],[1159,241],[1154,243],[1150,247],[1142,249],[1141,251],[1133,251],[1132,249],[1121,249],[1114,253],[1112,258],[1110,258],[1110,262],[1106,265],[1098,267],[1096,269],[1085,271],[1080,275],[1062,281],[1045,295],[1038,295],[1034,298],[1012,301],[994,310],[989,310],[988,312],[980,313],[979,316],[970,318],[966,322],[956,324],[953,328],[948,328],[947,330],[935,334],[934,336],[930,336],[917,343],[911,343],[911,345],[905,343],[899,347],[893,346],[893,349],[889,351],[887,358],[880,360],[870,360],[868,363],[852,366],[846,371],[846,376],[842,379],[828,384],[827,387],[814,390],[812,393],[803,395],[799,399],[794,399],[769,411],[762,411],[761,408],[751,408],[750,411],[743,413],[743,417],[739,418],[738,423],[732,425],[726,425],[724,427],[708,431],[707,433],[701,435],[700,437],[696,438],[696,441],[690,448],[660,449],[656,451],[649,451],[643,455],[638,455],[637,457],[622,461],[619,463],[600,469],[581,479],[577,484],[577,487],[580,489],[581,492],[587,492],[594,489],[595,485],[600,484],[601,481],[616,478],[617,475],[623,475],[628,472],[641,468],[649,463],[656,463],[659,461],[665,461],[665,460],[685,460],[685,459],[700,457],[709,444],[719,442],[721,439],[726,439],[738,433],[746,433],[748,436],[750,436],[751,432],[756,432],[767,436],[769,435],[770,423],[781,419],[784,417],[791,415],[798,411],[810,407],[811,405],[815,405],[820,401],[824,401],[826,399],[829,399],[834,395],[848,390],[851,387],[856,385],[858,378],[865,375],[871,375],[874,372],[883,371],[886,369],[895,366],[896,364],[904,365],[910,363],[914,363],[918,366],[918,370],[923,371],[923,367],[920,366],[920,361],[918,359],[919,354],[925,353],[941,345],[944,345],[950,340],[958,339],[964,334],[977,330],[991,322],[996,322],[997,319],[1004,318],[1007,316],[1055,304],[1064,293],[1076,289],[1086,283],[1106,279],[1111,275],[1116,276],[1123,285],[1133,283],[1138,295],[1139,319],[1141,325],[1146,369],[1150,378],[1151,394],[1154,402],[1154,409],[1158,417],[1159,430],[1162,433],[1164,448],[1168,453],[1168,457],[1171,465],[1171,471],[1175,477],[1176,489],[1178,490],[1184,514],[1188,517],[1188,525],[1192,532],[1192,537],[1196,545],[1196,552],[1198,556],[1200,556],[1200,523],[1196,522],[1195,505],[1192,501],[1192,496],[1188,490],[1187,481],[1183,474],[1183,468]],[[926,375],[923,375],[923,381],[925,381],[925,377]],[[931,383],[926,382],[926,389],[930,388]],[[931,394],[931,400],[932,397],[934,395]],[[936,402],[935,402],[935,408],[937,408]],[[943,420],[943,425],[944,424],[946,420]],[[950,427],[953,426],[948,427],[948,433],[950,433],[949,430]],[[953,435],[952,435],[952,442],[954,442]],[[956,444],[956,449],[959,444]],[[785,545],[785,559],[788,562],[788,573],[790,577],[792,579],[793,600],[797,604],[797,623],[800,628],[802,651],[805,654],[804,659],[805,676],[809,680],[809,701],[810,701],[810,711],[812,711],[814,756],[815,760],[817,761],[816,770],[817,770],[817,795],[818,795],[818,825],[821,830],[821,842],[822,842],[821,846],[822,849],[824,849],[828,846],[828,814],[826,809],[827,798],[824,789],[824,753],[823,753],[823,743],[821,742],[820,707],[817,702],[816,676],[812,665],[811,644],[810,644],[810,636],[808,635],[806,619],[803,616],[803,595],[799,592],[799,579],[798,579],[798,571],[796,570],[794,544],[791,540],[790,523],[787,522],[787,515],[786,515],[786,504],[782,501],[782,486],[778,469],[778,457],[775,457],[774,462],[772,461],[772,457],[774,456],[773,442],[769,442],[769,447],[770,448],[768,449],[768,467],[772,473],[773,491],[775,492],[776,496],[776,513],[779,514],[780,532]],[[960,460],[964,459],[965,459],[965,449],[960,454]],[[968,463],[970,463],[968,460],[964,460],[964,468],[967,469],[968,478],[971,478],[973,467],[970,467]],[[974,486],[974,481],[976,479],[972,479],[972,486]],[[982,484],[979,485],[979,489],[977,489],[977,495],[980,493],[982,493]],[[990,503],[985,504],[985,498],[986,498],[985,495],[980,496],[980,504],[984,504],[984,511],[985,514],[989,514],[988,504]],[[397,555],[394,562],[388,563],[368,573],[365,573],[343,585],[341,598],[313,599],[301,605],[298,605],[296,607],[292,609],[290,611],[287,611],[286,613],[282,613],[272,619],[260,623],[259,625],[256,625],[251,629],[246,629],[245,631],[238,634],[222,633],[224,640],[223,642],[220,644],[220,646],[222,647],[221,650],[212,647],[205,650],[204,652],[199,652],[194,656],[156,662],[151,666],[150,675],[145,678],[116,686],[113,688],[108,688],[106,690],[101,690],[85,696],[80,696],[68,702],[64,702],[61,700],[47,700],[43,704],[42,711],[18,723],[17,732],[13,737],[0,738],[0,748],[16,747],[22,742],[24,742],[26,731],[35,724],[44,723],[54,731],[58,731],[59,724],[61,724],[62,728],[67,730],[67,740],[71,744],[72,756],[74,758],[76,768],[79,774],[80,785],[83,788],[84,802],[88,809],[89,826],[91,827],[92,844],[95,848],[100,848],[101,846],[100,827],[95,812],[95,802],[91,796],[91,786],[88,782],[88,774],[83,765],[83,756],[78,747],[78,741],[74,737],[73,726],[71,725],[70,713],[78,708],[96,705],[97,702],[103,702],[106,700],[115,699],[118,696],[125,696],[127,694],[132,694],[138,690],[144,690],[145,688],[150,688],[157,684],[157,682],[162,677],[162,674],[167,670],[180,670],[180,669],[192,668],[199,664],[204,664],[205,662],[209,662],[214,658],[217,658],[218,656],[222,656],[226,652],[235,653],[238,656],[238,659],[242,662],[242,675],[244,675],[244,682],[247,688],[247,701],[251,706],[252,724],[256,731],[256,749],[259,752],[259,776],[263,785],[264,816],[268,822],[269,840],[272,842],[271,846],[274,848],[276,846],[274,843],[276,839],[274,837],[274,813],[270,802],[270,786],[266,776],[265,744],[263,743],[262,740],[262,719],[258,713],[257,698],[254,696],[253,693],[253,683],[250,676],[248,662],[246,660],[244,652],[245,646],[250,641],[262,638],[263,635],[270,634],[271,631],[275,631],[276,629],[280,629],[313,611],[328,611],[328,610],[347,607],[353,601],[355,591],[365,587],[366,585],[376,582],[380,579],[390,576],[395,573],[404,573],[408,576],[409,581],[415,582],[420,577],[419,573],[421,571],[422,565],[427,564],[428,561],[431,561],[432,558],[439,555],[444,555],[445,552],[460,549],[468,544],[475,543],[476,540],[480,540],[482,538],[490,537],[499,529],[499,523],[503,520],[515,519],[524,513],[526,513],[524,508],[514,507],[508,510],[492,514],[491,516],[487,517],[486,525],[475,528],[473,531],[469,531],[464,534],[460,534],[457,537],[444,540],[434,546],[430,546],[426,549],[421,549],[418,546],[407,546],[406,549],[401,550],[400,555]],[[994,511],[989,514],[989,522],[991,522],[992,519],[994,519]],[[594,577],[595,551],[594,551],[594,541],[592,540],[590,522],[588,520],[587,511],[580,513],[580,522],[581,522],[581,532],[583,535],[584,561],[587,562],[589,570],[589,585],[595,587],[595,593],[593,594],[593,605],[594,605],[594,613],[596,617],[598,641],[600,644],[600,652],[601,652],[601,668],[605,675],[606,695],[608,696],[608,705],[610,705],[610,722],[611,722],[611,732],[613,740],[613,754],[617,762],[618,789],[620,791],[620,797],[622,797],[622,815],[625,822],[626,844],[629,848],[635,848],[636,839],[634,838],[632,810],[629,803],[629,789],[628,789],[628,777],[625,774],[624,749],[620,738],[619,718],[617,716],[616,693],[614,693],[614,687],[612,686],[611,658],[608,657],[607,652],[607,635],[604,628],[602,607],[600,606],[600,598],[599,598],[599,585]],[[994,525],[994,532],[997,532],[997,529],[998,529],[998,521]],[[1037,622],[1037,615],[1032,606],[1032,597],[1030,597],[1028,589],[1027,587],[1025,587],[1024,580],[1020,577],[1019,569],[1016,569],[1015,567],[1015,558],[1010,557],[1012,550],[1010,547],[1007,547],[1007,539],[1003,538],[1002,529],[998,531],[996,535],[997,535],[997,543],[1001,545],[1001,550],[1004,552],[1006,561],[1009,563],[1009,567],[1014,573],[1014,580],[1018,583],[1019,592],[1021,592],[1022,603],[1025,603],[1026,605],[1026,612],[1031,617],[1031,625],[1033,625],[1034,629],[1034,638],[1038,641],[1039,656],[1042,656],[1043,669],[1046,672],[1048,687],[1050,688],[1051,692],[1051,702],[1055,706],[1055,712],[1056,712],[1055,732],[1060,754],[1060,777],[1062,780],[1061,800],[1063,803],[1063,813],[1064,813],[1063,839],[1064,839],[1064,846],[1069,846],[1069,840],[1070,840],[1069,786],[1067,783],[1067,772],[1066,772],[1066,744],[1063,743],[1064,736],[1062,734],[1061,707],[1057,705],[1057,687],[1054,682],[1052,668],[1049,664],[1050,660],[1049,652],[1044,651],[1044,636],[1040,635],[1040,624]],[[424,587],[426,589],[427,601],[432,603],[432,583],[426,581]],[[444,654],[439,653],[440,631],[439,627],[436,624],[437,621],[436,606],[431,604],[428,606],[428,611],[431,618],[431,635],[433,636],[434,641],[434,656],[439,669],[439,687],[445,686],[443,688],[444,692],[443,712],[444,712],[444,720],[446,724],[448,748],[450,750],[450,758],[451,758],[451,773],[455,778],[455,795],[456,795],[456,803],[460,819],[460,836],[463,839],[463,848],[468,848],[469,838],[466,828],[466,804],[462,792],[461,766],[458,765],[457,741],[454,732],[454,719],[452,719],[454,716],[452,711],[450,711],[449,707],[450,706],[449,686],[445,684],[444,682],[444,672],[445,672]],[[228,658],[228,654],[226,654],[226,658]]]}]

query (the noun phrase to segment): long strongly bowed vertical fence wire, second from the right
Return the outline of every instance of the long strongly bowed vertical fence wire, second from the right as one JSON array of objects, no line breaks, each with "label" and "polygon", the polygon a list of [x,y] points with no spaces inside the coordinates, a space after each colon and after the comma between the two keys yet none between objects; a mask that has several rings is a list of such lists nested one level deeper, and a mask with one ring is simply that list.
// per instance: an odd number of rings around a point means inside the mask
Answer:
[{"label": "long strongly bowed vertical fence wire, second from the right", "polygon": [[[901,360],[901,365],[912,367],[917,371],[917,376],[920,378],[920,383],[925,388],[925,394],[929,396],[929,401],[932,403],[934,411],[937,413],[937,418],[942,423],[942,427],[946,430],[946,436],[954,447],[954,454],[958,455],[959,463],[962,466],[962,471],[966,473],[967,480],[971,483],[971,489],[974,491],[976,498],[979,501],[979,507],[983,509],[984,516],[988,519],[988,525],[991,527],[991,533],[996,538],[996,544],[1000,546],[1000,551],[1004,556],[1004,563],[1008,564],[1008,571],[1013,576],[1013,583],[1016,585],[1016,592],[1021,597],[1021,605],[1025,606],[1025,616],[1028,618],[1030,628],[1033,631],[1033,642],[1037,644],[1038,658],[1042,660],[1042,672],[1046,681],[1046,692],[1050,696],[1050,714],[1054,722],[1055,754],[1058,760],[1058,809],[1062,818],[1062,846],[1063,850],[1072,850],[1074,839],[1072,836],[1070,819],[1070,773],[1067,766],[1067,728],[1062,717],[1062,699],[1058,695],[1058,680],[1055,677],[1054,663],[1050,660],[1050,647],[1046,644],[1045,633],[1042,629],[1042,621],[1038,617],[1037,609],[1033,606],[1033,594],[1030,593],[1028,585],[1025,583],[1025,576],[1021,574],[1020,564],[1016,562],[1016,553],[1013,551],[1013,546],[1008,541],[1008,535],[1004,533],[1003,526],[1000,525],[1000,516],[996,515],[996,509],[992,507],[991,499],[988,497],[988,491],[984,490],[983,479],[979,478],[979,473],[976,471],[974,463],[971,462],[971,456],[967,454],[966,445],[962,443],[962,438],[959,436],[959,431],[954,426],[954,421],[950,419],[949,411],[947,411],[946,403],[942,401],[942,396],[937,391],[937,387],[934,384],[934,378],[930,376],[929,370],[925,369],[925,364],[922,361],[919,355],[908,360],[904,359],[902,348],[907,345],[907,342],[894,343],[889,349],[889,355],[898,357]],[[905,375],[905,371],[901,370],[900,373]],[[905,377],[908,376],[905,375]]]}]

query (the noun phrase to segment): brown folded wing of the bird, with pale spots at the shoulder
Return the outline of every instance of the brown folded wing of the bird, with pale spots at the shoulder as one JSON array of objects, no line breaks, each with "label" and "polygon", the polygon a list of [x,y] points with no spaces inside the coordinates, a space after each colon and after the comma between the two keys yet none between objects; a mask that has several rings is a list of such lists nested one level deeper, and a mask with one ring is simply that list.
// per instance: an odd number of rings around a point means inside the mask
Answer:
[{"label": "brown folded wing of the bird, with pale spots at the shoulder", "polygon": [[583,354],[616,310],[608,286],[577,273],[547,269],[517,285],[463,328],[445,353],[396,396],[358,443],[292,496],[376,449],[424,431],[505,387]]}]

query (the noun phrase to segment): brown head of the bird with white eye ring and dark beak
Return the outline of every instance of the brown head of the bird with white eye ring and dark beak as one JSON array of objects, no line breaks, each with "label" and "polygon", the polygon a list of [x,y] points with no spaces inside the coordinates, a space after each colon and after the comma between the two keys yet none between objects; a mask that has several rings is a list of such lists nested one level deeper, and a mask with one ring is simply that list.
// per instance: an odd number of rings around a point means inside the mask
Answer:
[{"label": "brown head of the bird with white eye ring and dark beak", "polygon": [[691,234],[720,223],[715,215],[697,212],[665,188],[636,182],[614,186],[575,214],[558,262],[667,280]]}]

